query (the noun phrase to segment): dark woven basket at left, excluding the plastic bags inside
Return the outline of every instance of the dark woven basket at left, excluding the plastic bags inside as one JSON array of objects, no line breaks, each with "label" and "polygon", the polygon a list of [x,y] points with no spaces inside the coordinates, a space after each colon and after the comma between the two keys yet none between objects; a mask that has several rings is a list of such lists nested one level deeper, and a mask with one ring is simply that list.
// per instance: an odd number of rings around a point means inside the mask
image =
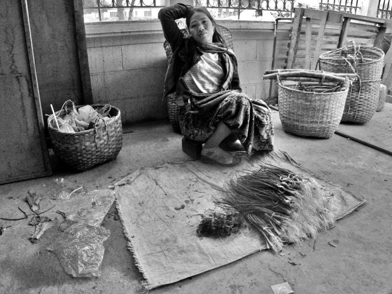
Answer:
[{"label": "dark woven basket at left, excluding the plastic bags inside", "polygon": [[[76,106],[76,109],[82,105]],[[91,105],[94,109],[104,105]],[[61,111],[57,111],[56,116]],[[111,106],[109,116],[113,120],[105,125],[75,133],[63,133],[54,128],[53,114],[48,118],[50,142],[56,156],[66,165],[81,172],[98,164],[117,158],[123,146],[121,112]]]}]

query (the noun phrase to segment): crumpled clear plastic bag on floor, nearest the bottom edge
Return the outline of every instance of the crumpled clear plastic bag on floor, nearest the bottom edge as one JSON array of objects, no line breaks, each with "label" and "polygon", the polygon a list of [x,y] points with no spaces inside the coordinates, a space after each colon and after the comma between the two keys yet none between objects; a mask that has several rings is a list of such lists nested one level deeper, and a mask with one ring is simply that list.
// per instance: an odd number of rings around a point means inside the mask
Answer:
[{"label": "crumpled clear plastic bag on floor, nearest the bottom edge", "polygon": [[64,270],[74,277],[98,277],[110,231],[84,223],[70,225],[48,250],[56,254]]}]

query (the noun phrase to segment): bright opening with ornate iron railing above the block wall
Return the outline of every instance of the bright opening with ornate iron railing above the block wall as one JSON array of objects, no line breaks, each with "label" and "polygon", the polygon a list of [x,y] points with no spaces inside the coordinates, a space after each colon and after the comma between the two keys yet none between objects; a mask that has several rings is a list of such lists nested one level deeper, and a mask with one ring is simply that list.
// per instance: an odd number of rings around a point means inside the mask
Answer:
[{"label": "bright opening with ornate iron railing above the block wall", "polygon": [[[307,7],[309,4],[306,3],[310,1],[312,1],[311,8],[316,9],[331,9],[354,14],[360,10],[359,0],[193,0],[193,5],[206,6],[216,20],[274,22],[277,17],[291,18],[295,7]],[[381,0],[379,1],[381,3]],[[170,0],[83,0],[83,8],[85,16],[97,13],[99,22],[109,18],[109,11],[110,19],[150,20],[158,19],[158,12],[166,6],[166,2]],[[141,10],[139,16],[136,10]],[[129,15],[129,17],[118,17],[119,15]]]}]

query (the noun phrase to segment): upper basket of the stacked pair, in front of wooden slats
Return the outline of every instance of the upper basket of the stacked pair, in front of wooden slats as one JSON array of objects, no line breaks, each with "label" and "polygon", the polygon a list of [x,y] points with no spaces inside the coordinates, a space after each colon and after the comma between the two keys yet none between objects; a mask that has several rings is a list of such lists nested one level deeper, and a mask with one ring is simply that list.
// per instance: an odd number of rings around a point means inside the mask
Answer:
[{"label": "upper basket of the stacked pair, in front of wooden slats", "polygon": [[319,68],[331,73],[356,73],[361,80],[381,78],[385,53],[364,45],[348,46],[322,53]]}]

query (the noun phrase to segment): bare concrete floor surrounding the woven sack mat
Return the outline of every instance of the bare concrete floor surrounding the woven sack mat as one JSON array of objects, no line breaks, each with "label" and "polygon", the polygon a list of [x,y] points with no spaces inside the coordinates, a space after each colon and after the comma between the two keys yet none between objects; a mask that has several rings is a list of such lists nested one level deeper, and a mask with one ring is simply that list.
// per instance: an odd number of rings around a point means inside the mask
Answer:
[{"label": "bare concrete floor surrounding the woven sack mat", "polygon": [[[316,240],[287,246],[282,255],[258,252],[151,293],[272,294],[271,285],[287,281],[296,294],[392,294],[392,157],[338,135],[325,140],[287,134],[278,113],[273,116],[276,150],[287,151],[305,169],[367,202]],[[52,176],[0,185],[1,217],[20,217],[18,206],[28,211],[25,196],[30,189],[44,193],[42,208],[56,204],[56,179],[86,190],[104,189],[141,167],[191,160],[181,151],[181,136],[166,121],[124,127],[118,158],[86,172],[68,171],[51,159]],[[54,211],[47,215],[59,217]],[[56,228],[31,244],[34,227],[26,220],[0,225],[12,225],[0,236],[1,294],[142,293],[142,275],[127,249],[122,224],[113,216],[103,221],[111,235],[104,242],[98,278],[73,278],[62,269],[46,249],[59,234]]]}]

